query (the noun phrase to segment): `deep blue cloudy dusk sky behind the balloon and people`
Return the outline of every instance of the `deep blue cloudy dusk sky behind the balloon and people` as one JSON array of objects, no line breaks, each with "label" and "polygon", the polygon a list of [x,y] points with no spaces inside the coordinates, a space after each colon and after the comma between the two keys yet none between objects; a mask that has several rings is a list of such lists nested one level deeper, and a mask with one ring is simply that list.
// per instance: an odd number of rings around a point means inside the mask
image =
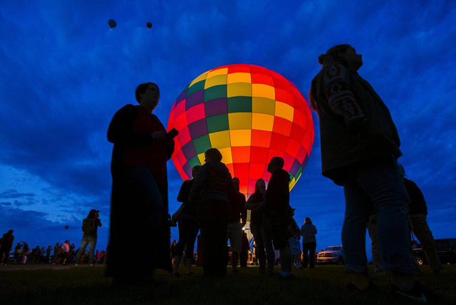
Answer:
[{"label": "deep blue cloudy dusk sky behind the balloon and people", "polygon": [[[81,240],[110,210],[108,124],[160,86],[166,125],[200,73],[232,63],[270,68],[307,95],[317,58],[338,43],[363,54],[359,73],[393,115],[404,165],[427,200],[435,238],[456,237],[454,1],[6,1],[0,6],[0,232],[32,247]],[[118,26],[110,31],[108,19]],[[153,24],[147,30],[146,22]],[[343,189],[321,176],[318,117],[311,157],[291,191],[317,248],[341,244]],[[170,212],[182,179],[168,162]],[[64,229],[69,225],[68,230]],[[446,226],[446,227],[443,227]],[[441,229],[438,229],[443,227]],[[173,239],[177,229],[172,230]]]}]

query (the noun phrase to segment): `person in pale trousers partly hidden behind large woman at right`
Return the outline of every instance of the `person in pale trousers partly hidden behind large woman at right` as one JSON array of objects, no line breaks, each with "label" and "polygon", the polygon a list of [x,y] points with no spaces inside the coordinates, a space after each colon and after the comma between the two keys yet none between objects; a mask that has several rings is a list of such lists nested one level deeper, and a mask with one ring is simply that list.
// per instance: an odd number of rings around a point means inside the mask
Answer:
[{"label": "person in pale trousers partly hidden behind large woman at right", "polygon": [[433,274],[443,274],[442,263],[437,254],[435,240],[432,236],[432,231],[427,225],[427,205],[423,192],[418,185],[412,180],[405,177],[405,170],[402,165],[399,165],[400,174],[403,177],[405,189],[407,189],[410,202],[408,202],[408,214],[412,222],[412,231],[418,238],[423,249],[425,249],[427,264]]}]

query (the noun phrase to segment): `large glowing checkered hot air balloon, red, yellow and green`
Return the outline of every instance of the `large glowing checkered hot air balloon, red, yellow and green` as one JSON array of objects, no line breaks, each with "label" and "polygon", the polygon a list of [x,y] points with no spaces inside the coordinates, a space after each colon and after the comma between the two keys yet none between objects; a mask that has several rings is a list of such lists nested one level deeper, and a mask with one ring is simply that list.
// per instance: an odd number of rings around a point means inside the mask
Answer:
[{"label": "large glowing checkered hot air balloon, red, yellow and green", "polygon": [[217,148],[240,192],[251,195],[255,182],[269,182],[267,164],[283,157],[290,190],[301,177],[312,145],[314,121],[303,95],[279,73],[236,64],[195,78],[172,105],[168,130],[176,128],[172,155],[183,180],[204,164],[204,152]]}]

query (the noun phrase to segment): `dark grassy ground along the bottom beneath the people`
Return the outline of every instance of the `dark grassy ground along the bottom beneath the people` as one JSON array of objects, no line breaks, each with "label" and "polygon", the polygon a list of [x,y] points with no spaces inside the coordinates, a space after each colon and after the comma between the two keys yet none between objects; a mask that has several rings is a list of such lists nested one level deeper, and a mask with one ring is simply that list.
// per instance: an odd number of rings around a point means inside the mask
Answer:
[{"label": "dark grassy ground along the bottom beneath the people", "polygon": [[[418,277],[432,291],[429,304],[456,304],[456,265],[433,276],[427,266]],[[390,276],[373,276],[378,291],[347,291],[348,276],[342,266],[316,266],[295,271],[295,279],[258,276],[257,267],[240,269],[223,279],[207,279],[202,268],[192,276],[173,277],[158,271],[155,288],[113,288],[104,267],[1,271],[0,304],[417,304],[398,299],[388,290]],[[276,272],[278,269],[276,269]],[[182,270],[183,272],[183,270]],[[372,274],[372,273],[371,273]]]}]

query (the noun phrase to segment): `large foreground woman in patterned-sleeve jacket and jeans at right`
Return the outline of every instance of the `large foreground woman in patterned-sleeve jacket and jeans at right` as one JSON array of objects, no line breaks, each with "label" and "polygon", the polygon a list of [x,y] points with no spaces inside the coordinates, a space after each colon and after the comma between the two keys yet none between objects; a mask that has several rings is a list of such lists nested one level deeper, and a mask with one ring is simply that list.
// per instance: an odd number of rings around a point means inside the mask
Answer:
[{"label": "large foreground woman in patterned-sleeve jacket and jeans at right", "polygon": [[393,274],[394,291],[425,299],[414,284],[408,244],[408,194],[396,159],[402,155],[390,111],[358,74],[361,54],[347,44],[318,57],[323,65],[311,83],[309,100],[320,121],[323,176],[343,186],[346,213],[342,229],[348,288],[368,289],[366,224],[377,210],[384,269]]}]

